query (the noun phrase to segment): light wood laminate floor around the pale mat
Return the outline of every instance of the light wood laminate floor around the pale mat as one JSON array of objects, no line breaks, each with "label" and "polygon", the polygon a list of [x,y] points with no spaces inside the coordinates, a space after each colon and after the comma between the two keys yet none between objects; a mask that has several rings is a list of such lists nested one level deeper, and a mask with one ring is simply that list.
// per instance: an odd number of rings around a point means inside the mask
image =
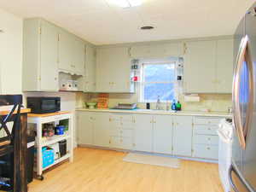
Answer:
[{"label": "light wood laminate floor around the pale mat", "polygon": [[73,163],[46,172],[29,192],[223,192],[218,165],[182,160],[179,169],[123,161],[125,153],[76,148]]}]

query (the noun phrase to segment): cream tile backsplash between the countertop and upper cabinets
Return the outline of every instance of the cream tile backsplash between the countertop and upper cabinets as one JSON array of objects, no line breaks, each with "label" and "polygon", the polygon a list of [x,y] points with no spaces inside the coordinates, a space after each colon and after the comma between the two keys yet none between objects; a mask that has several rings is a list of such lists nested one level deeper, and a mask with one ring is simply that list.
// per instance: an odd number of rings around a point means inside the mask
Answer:
[{"label": "cream tile backsplash between the countertop and upper cabinets", "polygon": [[[212,112],[228,112],[228,108],[232,107],[231,94],[199,94],[200,102],[184,102],[183,95],[179,96],[184,111],[201,111],[210,110]],[[77,96],[77,106],[85,107],[84,102],[96,102],[97,94],[83,94]],[[110,93],[108,107],[113,108],[119,102],[137,102],[137,94],[118,94]],[[171,105],[171,103],[168,103]],[[139,108],[146,108],[146,103],[139,102]],[[155,103],[151,103],[151,108],[155,108]],[[166,109],[166,102],[161,103],[161,108]]]}]

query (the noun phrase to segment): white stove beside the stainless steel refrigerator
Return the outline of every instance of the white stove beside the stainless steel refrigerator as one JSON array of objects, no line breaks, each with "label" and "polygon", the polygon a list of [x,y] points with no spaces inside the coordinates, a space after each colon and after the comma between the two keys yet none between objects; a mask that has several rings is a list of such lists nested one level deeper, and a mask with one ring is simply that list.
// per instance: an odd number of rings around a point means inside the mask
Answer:
[{"label": "white stove beside the stainless steel refrigerator", "polygon": [[232,154],[232,119],[222,119],[218,127],[218,172],[224,192],[230,192],[229,168]]}]

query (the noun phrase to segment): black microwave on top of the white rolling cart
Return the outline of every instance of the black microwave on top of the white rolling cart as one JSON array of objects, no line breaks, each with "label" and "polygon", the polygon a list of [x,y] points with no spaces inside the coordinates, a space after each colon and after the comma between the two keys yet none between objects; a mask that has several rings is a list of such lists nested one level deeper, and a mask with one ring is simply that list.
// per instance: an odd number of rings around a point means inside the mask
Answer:
[{"label": "black microwave on top of the white rolling cart", "polygon": [[28,96],[26,101],[32,113],[54,113],[61,110],[61,97]]}]

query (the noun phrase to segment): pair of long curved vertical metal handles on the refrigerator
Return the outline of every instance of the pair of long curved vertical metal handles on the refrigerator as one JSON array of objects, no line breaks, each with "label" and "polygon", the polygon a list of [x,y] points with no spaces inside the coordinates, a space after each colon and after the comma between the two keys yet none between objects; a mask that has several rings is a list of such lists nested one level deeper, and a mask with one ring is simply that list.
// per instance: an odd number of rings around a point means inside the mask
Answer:
[{"label": "pair of long curved vertical metal handles on the refrigerator", "polygon": [[[242,148],[246,148],[246,136],[248,126],[252,119],[253,114],[253,62],[251,60],[251,55],[248,49],[248,37],[245,36],[241,40],[241,45],[239,53],[237,56],[237,64],[234,73],[233,80],[233,105],[234,105],[234,121],[236,125],[236,132],[239,138],[239,142]],[[247,68],[249,73],[249,99],[247,103],[247,117],[245,124],[242,125],[241,122],[241,108],[240,108],[240,80],[241,80],[241,69],[243,62],[247,61]]]}]

